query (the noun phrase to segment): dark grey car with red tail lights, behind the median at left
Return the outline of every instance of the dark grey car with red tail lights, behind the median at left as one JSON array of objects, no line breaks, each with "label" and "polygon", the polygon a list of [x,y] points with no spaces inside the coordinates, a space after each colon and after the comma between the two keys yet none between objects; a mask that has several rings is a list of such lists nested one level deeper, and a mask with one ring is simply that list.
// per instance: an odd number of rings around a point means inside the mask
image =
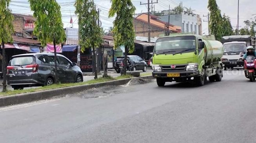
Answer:
[{"label": "dark grey car with red tail lights, behind the median at left", "polygon": [[[57,66],[60,82],[83,81],[81,69],[64,55],[57,54]],[[55,72],[53,53],[14,55],[7,66],[7,84],[14,89],[51,85]]]}]

